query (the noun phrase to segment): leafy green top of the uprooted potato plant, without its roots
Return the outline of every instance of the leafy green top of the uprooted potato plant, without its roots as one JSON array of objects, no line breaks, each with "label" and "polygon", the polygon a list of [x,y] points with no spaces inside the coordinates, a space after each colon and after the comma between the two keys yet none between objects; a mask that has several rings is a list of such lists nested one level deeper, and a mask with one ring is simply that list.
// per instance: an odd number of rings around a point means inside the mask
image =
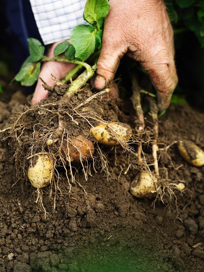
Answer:
[{"label": "leafy green top of the uprooted potato plant, without its roots", "polygon": [[[29,38],[30,56],[24,61],[14,80],[23,86],[31,86],[38,79],[41,62],[59,61],[75,63],[75,73],[85,67],[90,78],[96,66],[91,67],[84,61],[94,51],[99,51],[103,35],[103,20],[107,16],[110,5],[108,0],[87,0],[84,8],[84,20],[89,24],[75,26],[70,34],[70,42],[63,41],[54,49],[54,58],[44,55],[45,47],[37,39]],[[64,56],[61,54],[64,53]]]}]

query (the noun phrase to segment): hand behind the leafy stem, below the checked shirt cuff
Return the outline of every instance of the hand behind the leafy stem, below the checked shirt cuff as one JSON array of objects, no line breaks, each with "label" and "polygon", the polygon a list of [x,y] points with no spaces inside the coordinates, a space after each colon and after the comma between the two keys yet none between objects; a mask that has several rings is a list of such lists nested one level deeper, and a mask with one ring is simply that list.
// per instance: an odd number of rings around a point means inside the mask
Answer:
[{"label": "hand behind the leafy stem, below the checked shirt cuff", "polygon": [[[54,49],[56,45],[59,44],[60,42],[55,42],[54,44],[50,45],[50,48],[47,54],[49,58],[54,57]],[[49,86],[54,86],[55,82],[52,80],[51,74],[54,75],[58,79],[62,79],[74,67],[75,67],[75,64],[73,63],[47,61],[42,65],[39,77],[41,77]],[[35,92],[33,94],[32,103],[34,104],[41,101],[41,99],[47,99],[47,98],[48,98],[48,91],[46,91],[42,87],[42,82],[38,79]]]}]

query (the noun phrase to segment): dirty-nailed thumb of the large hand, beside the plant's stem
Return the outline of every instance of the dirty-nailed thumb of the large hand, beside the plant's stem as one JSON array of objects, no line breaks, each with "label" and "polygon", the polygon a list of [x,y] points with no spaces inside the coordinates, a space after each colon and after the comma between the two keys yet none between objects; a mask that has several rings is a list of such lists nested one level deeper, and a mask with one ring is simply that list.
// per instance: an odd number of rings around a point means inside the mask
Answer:
[{"label": "dirty-nailed thumb of the large hand, beside the plant's stem", "polygon": [[107,41],[107,38],[103,39],[101,46],[101,53],[97,62],[97,76],[95,78],[95,88],[103,89],[114,78],[116,70],[123,53],[120,50],[114,51],[113,44]]}]

